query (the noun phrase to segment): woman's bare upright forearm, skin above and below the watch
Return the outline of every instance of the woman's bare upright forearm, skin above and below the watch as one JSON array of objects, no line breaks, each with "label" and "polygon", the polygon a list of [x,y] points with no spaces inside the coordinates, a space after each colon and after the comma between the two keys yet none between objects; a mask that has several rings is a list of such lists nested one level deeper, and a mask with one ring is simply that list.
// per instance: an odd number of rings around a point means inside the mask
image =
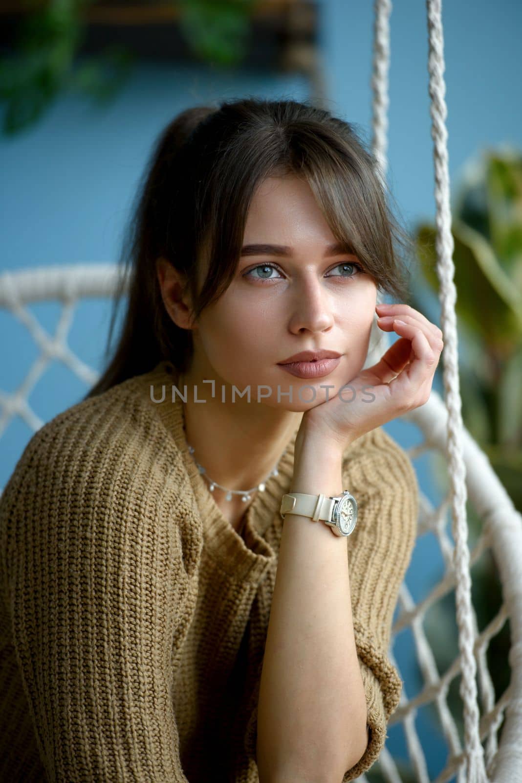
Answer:
[{"label": "woman's bare upright forearm, skin above and below the watch", "polygon": [[[342,489],[336,449],[296,452],[291,492]],[[259,689],[260,783],[341,783],[366,749],[346,547],[323,521],[285,514]]]}]

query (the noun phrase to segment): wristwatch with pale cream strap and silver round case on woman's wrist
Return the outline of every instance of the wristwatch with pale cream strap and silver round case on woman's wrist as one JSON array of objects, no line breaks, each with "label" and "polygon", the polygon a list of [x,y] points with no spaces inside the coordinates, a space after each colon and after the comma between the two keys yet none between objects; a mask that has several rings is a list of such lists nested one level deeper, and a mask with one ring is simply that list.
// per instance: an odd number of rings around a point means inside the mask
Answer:
[{"label": "wristwatch with pale cream strap and silver round case on woman's wrist", "polygon": [[344,489],[342,495],[306,495],[305,493],[292,492],[283,495],[281,517],[284,514],[299,514],[310,517],[313,521],[322,520],[334,533],[334,536],[349,536],[356,526],[357,503],[348,489]]}]

